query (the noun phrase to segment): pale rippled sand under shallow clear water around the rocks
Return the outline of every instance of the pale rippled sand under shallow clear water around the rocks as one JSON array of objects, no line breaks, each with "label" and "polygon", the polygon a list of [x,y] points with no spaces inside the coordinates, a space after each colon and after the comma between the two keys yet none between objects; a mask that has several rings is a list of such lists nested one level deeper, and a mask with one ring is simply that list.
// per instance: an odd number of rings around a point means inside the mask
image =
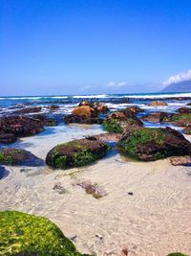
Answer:
[{"label": "pale rippled sand under shallow clear water around the rocks", "polygon": [[[97,127],[71,126],[71,133],[57,127],[59,132],[49,130],[47,135],[23,138],[12,146],[44,159],[58,143],[101,133]],[[112,151],[91,166],[68,171],[47,166],[6,169],[11,173],[0,180],[0,210],[49,218],[80,252],[119,256],[124,247],[130,256],[163,256],[173,251],[190,255],[189,167],[174,167],[169,159],[133,162]],[[79,181],[97,183],[105,196],[87,195],[76,185]],[[58,182],[66,193],[53,190]]]}]

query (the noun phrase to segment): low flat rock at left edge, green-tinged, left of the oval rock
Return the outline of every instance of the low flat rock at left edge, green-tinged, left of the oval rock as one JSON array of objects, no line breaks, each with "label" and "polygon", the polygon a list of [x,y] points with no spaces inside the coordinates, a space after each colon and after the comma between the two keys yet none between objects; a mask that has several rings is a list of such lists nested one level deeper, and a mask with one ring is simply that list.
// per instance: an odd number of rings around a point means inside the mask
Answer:
[{"label": "low flat rock at left edge, green-tinged, left of the oval rock", "polygon": [[41,166],[43,160],[33,155],[30,151],[8,148],[0,150],[0,164]]}]

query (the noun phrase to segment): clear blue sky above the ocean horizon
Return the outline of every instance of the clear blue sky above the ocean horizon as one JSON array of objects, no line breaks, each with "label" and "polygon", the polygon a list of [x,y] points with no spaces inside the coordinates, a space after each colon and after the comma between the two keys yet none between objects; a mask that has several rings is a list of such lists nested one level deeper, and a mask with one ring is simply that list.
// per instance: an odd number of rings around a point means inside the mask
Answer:
[{"label": "clear blue sky above the ocean horizon", "polygon": [[191,68],[190,0],[0,0],[0,95],[158,91]]}]

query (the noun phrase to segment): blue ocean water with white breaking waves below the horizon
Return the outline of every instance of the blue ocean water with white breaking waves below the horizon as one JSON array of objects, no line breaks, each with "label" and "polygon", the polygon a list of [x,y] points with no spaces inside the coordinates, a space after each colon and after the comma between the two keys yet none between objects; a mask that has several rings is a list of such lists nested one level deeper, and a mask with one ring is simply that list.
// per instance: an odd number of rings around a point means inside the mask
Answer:
[{"label": "blue ocean water with white breaking waves below the horizon", "polygon": [[[82,100],[99,101],[108,105],[113,110],[121,109],[130,105],[138,105],[150,111],[174,112],[179,107],[191,102],[191,92],[188,93],[146,93],[146,94],[99,94],[99,95],[63,95],[63,96],[21,96],[21,97],[0,97],[0,115],[27,106],[41,106],[42,112],[49,112],[47,106],[59,105],[57,113],[69,114],[74,106]],[[164,101],[167,106],[151,107],[148,103],[152,101]]]}]

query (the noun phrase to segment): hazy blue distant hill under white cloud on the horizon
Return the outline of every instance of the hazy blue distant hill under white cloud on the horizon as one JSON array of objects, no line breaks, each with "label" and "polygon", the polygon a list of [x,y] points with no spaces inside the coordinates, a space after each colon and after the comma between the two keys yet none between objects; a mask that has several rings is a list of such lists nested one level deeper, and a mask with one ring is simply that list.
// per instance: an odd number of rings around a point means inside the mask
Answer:
[{"label": "hazy blue distant hill under white cloud on the horizon", "polygon": [[161,92],[191,92],[191,80],[170,83]]}]

